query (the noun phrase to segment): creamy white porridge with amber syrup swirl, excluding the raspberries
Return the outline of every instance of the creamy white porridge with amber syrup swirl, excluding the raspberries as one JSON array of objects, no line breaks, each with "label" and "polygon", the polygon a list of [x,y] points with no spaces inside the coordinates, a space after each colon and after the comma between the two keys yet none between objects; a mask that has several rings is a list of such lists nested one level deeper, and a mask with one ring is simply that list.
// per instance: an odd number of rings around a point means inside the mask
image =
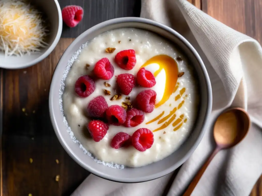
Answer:
[{"label": "creamy white porridge with amber syrup swirl, excluding the raspberries", "polygon": [[[129,49],[135,51],[136,63],[131,70],[124,70],[117,65],[115,56]],[[93,77],[94,66],[102,58],[107,58],[113,65],[112,78],[94,79],[94,91],[87,97],[80,97],[75,92],[76,81],[83,75]],[[155,85],[150,88],[135,85],[128,95],[120,94],[117,76],[128,73],[136,77],[142,67],[155,76]],[[87,112],[91,100],[103,96],[108,107],[119,105],[130,109],[130,103],[137,107],[134,101],[138,94],[149,89],[156,92],[155,107],[151,113],[144,112],[141,124],[134,127],[108,124],[105,136],[99,142],[94,141],[86,126],[92,120]],[[159,161],[182,145],[195,122],[197,95],[193,70],[175,46],[154,33],[125,28],[101,34],[81,50],[65,80],[62,98],[67,122],[86,150],[105,162],[138,167]],[[133,145],[119,149],[112,147],[112,139],[117,133],[125,132],[132,136],[140,128],[153,132],[151,147],[143,152]]]}]

